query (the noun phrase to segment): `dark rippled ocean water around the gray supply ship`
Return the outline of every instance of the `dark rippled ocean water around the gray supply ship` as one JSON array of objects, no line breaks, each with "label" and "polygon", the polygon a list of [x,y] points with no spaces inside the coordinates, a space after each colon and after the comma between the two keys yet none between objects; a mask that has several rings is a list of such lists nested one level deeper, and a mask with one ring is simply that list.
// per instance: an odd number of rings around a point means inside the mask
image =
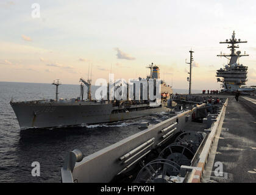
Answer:
[{"label": "dark rippled ocean water around the gray supply ship", "polygon": [[[188,90],[174,89],[174,93]],[[201,93],[194,90],[192,93]],[[59,98],[77,98],[79,85],[60,85]],[[20,130],[10,100],[54,99],[55,87],[48,83],[0,82],[0,182],[61,182],[60,168],[69,151],[92,154],[140,132],[138,124],[157,124],[171,117],[167,113],[111,124],[55,129]],[[40,163],[40,176],[31,174],[32,162]]]}]

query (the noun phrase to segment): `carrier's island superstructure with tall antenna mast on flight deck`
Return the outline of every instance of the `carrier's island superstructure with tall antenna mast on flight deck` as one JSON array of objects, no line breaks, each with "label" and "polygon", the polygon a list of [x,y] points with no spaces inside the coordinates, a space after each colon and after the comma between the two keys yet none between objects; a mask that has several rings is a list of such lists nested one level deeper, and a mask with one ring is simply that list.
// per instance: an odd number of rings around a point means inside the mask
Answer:
[{"label": "carrier's island superstructure with tall antenna mast on flight deck", "polygon": [[219,57],[226,57],[229,60],[229,63],[217,70],[216,77],[218,82],[222,82],[222,91],[233,92],[241,90],[241,85],[246,85],[247,82],[247,66],[239,63],[240,57],[249,56],[244,52],[241,54],[241,51],[236,51],[236,48],[239,48],[238,43],[247,43],[247,41],[241,41],[240,39],[236,40],[235,31],[233,31],[232,38],[229,40],[219,42],[221,44],[229,44],[227,48],[230,49],[231,54],[221,54],[217,55]]}]

